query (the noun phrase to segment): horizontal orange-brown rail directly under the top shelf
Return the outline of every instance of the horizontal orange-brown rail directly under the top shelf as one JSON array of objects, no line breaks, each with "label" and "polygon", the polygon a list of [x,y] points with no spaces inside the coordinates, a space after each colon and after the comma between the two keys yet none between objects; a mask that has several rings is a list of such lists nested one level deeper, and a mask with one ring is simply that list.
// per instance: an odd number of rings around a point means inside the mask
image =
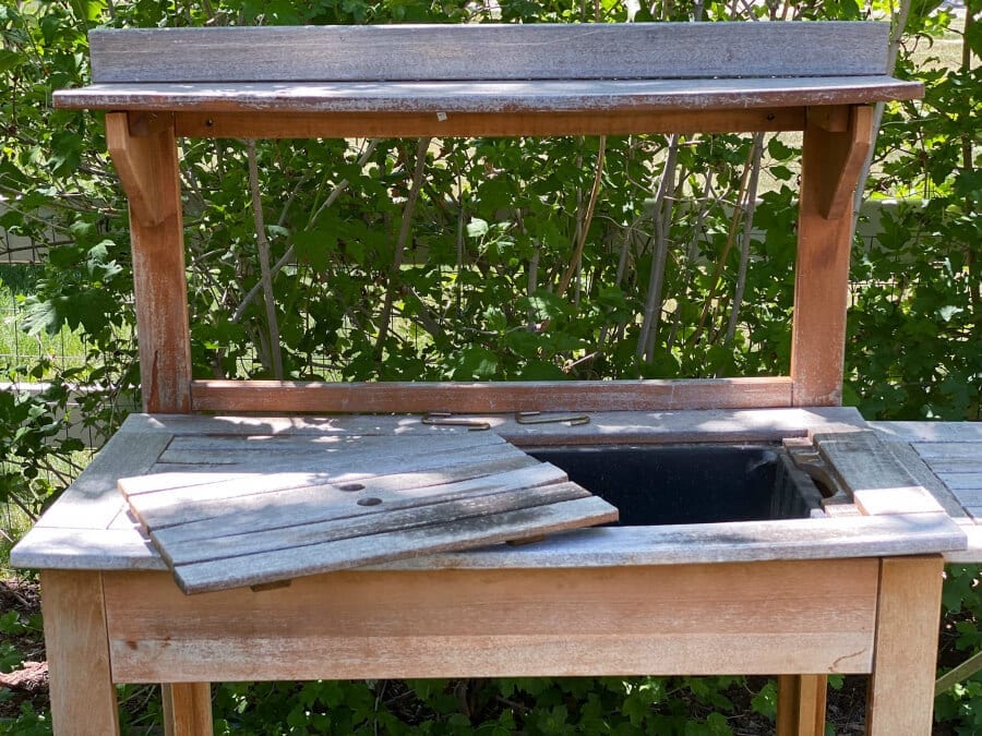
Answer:
[{"label": "horizontal orange-brown rail directly under the top shelf", "polygon": [[[115,93],[116,94],[116,93]],[[837,94],[845,94],[839,92]],[[627,135],[638,133],[723,133],[800,131],[804,107],[747,109],[643,110],[616,109],[624,100],[610,98],[596,110],[482,112],[178,112],[176,130],[188,137],[417,137],[422,135]],[[141,102],[143,105],[144,102]],[[292,100],[288,104],[292,105]],[[455,108],[460,105],[454,99]],[[555,100],[553,104],[559,104]]]}]

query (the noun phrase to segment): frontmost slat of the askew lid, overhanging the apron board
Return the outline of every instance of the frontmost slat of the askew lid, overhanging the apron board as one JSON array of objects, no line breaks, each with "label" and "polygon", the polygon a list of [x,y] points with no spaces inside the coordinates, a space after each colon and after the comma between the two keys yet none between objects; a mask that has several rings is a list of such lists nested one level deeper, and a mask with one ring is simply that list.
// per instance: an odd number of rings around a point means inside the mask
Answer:
[{"label": "frontmost slat of the askew lid, overhanging the apron board", "polygon": [[474,519],[445,521],[439,526],[261,552],[236,557],[233,564],[218,559],[176,565],[173,574],[185,593],[228,590],[360,567],[402,556],[538,539],[565,529],[616,521],[616,509],[590,496]]}]

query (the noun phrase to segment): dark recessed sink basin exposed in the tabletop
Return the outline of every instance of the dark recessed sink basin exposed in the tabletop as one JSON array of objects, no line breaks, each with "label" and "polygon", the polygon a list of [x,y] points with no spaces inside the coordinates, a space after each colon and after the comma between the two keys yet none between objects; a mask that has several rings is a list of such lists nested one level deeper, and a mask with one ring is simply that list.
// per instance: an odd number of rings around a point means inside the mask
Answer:
[{"label": "dark recessed sink basin exposed in the tabletop", "polygon": [[809,517],[822,495],[780,447],[612,445],[527,450],[618,507],[619,526]]}]

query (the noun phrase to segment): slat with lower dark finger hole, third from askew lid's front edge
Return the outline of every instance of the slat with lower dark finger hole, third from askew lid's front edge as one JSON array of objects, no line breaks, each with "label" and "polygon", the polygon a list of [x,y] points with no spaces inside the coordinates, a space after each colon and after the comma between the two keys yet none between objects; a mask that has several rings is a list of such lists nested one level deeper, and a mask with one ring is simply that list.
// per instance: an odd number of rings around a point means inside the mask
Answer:
[{"label": "slat with lower dark finger hole, third from askew lid's front edge", "polygon": [[[384,475],[358,483],[362,487],[357,491],[342,491],[336,485],[266,491],[213,503],[195,503],[191,514],[179,511],[177,505],[167,504],[167,494],[155,494],[153,500],[159,505],[149,510],[142,508],[147,500],[145,497],[131,497],[130,503],[141,509],[140,518],[156,532],[157,539],[172,544],[372,515],[419,505],[428,499],[433,503],[481,493],[535,488],[566,480],[566,473],[559,468],[532,458],[524,458],[519,469],[514,469],[516,464],[514,460],[508,463],[480,463],[455,469],[452,475],[442,471],[439,474]],[[503,470],[503,467],[506,469]],[[454,482],[455,478],[460,480]],[[164,498],[159,498],[161,495]],[[378,498],[381,504],[358,506],[357,502],[366,497]]]}]

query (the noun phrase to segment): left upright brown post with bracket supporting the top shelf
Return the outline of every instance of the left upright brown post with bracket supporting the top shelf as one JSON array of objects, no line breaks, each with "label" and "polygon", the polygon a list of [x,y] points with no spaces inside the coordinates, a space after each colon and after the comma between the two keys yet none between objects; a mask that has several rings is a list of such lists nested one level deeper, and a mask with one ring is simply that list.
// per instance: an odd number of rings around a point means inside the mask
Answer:
[{"label": "left upright brown post with bracket supporting the top shelf", "polygon": [[125,112],[109,112],[106,142],[130,200],[143,408],[181,413],[191,410],[191,345],[177,144],[172,118],[155,122],[141,119],[134,135]]}]

